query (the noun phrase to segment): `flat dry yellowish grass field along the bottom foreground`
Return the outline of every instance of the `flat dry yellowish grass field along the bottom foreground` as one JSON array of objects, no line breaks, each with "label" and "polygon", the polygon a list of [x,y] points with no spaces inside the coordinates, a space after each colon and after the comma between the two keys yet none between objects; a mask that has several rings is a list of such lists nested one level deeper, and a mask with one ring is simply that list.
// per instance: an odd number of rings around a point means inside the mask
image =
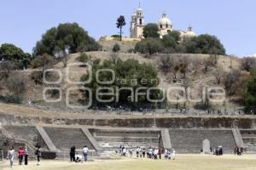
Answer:
[{"label": "flat dry yellowish grass field along the bottom foreground", "polygon": [[[0,163],[0,169],[8,170],[8,161]],[[41,166],[29,162],[29,166],[15,164],[14,170],[256,170],[256,156],[204,156],[178,155],[174,161],[148,159],[96,160],[87,163],[66,161],[42,161]]]}]

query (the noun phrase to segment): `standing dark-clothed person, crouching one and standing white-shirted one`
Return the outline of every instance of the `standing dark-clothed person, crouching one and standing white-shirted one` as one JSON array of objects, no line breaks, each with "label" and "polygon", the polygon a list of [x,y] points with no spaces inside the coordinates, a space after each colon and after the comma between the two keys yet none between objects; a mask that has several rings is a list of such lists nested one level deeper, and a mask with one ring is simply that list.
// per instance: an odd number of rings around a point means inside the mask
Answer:
[{"label": "standing dark-clothed person, crouching one and standing white-shirted one", "polygon": [[84,157],[84,161],[88,160],[88,152],[89,149],[88,147],[85,145],[83,148],[83,156],[79,155],[79,153],[76,151],[76,147],[72,146],[70,148],[70,162],[82,162],[82,159]]}]

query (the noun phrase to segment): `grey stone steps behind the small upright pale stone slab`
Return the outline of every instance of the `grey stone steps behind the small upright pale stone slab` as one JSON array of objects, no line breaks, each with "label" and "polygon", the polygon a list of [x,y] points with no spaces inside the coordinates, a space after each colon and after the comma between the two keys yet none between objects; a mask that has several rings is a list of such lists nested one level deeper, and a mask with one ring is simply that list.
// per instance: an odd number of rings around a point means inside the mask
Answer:
[{"label": "grey stone steps behind the small upright pale stone slab", "polygon": [[233,153],[233,148],[236,146],[231,130],[171,129],[169,133],[172,139],[172,148],[182,154],[201,153],[204,139],[210,141],[212,150],[222,145],[224,153]]}]

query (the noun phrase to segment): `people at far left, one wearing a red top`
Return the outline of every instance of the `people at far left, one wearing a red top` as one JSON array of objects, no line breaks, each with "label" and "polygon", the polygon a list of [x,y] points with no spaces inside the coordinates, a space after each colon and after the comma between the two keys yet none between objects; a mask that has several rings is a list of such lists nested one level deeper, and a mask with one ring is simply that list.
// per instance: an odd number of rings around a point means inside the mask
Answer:
[{"label": "people at far left, one wearing a red top", "polygon": [[[9,147],[8,150],[8,156],[7,159],[9,159],[10,167],[14,167],[14,161],[15,161],[15,156],[18,156],[19,159],[19,165],[23,164],[23,159],[24,159],[24,165],[28,164],[28,150],[27,147],[20,146],[20,149],[18,152],[15,152],[14,146]],[[41,147],[37,146],[36,151],[35,151],[35,156],[37,157],[38,165],[40,165],[40,157],[41,155]]]}]

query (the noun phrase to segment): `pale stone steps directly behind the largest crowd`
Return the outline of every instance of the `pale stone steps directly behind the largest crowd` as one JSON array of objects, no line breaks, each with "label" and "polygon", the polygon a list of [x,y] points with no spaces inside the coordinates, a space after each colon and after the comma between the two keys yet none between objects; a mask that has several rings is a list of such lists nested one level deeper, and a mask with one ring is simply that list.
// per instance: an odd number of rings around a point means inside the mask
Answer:
[{"label": "pale stone steps directly behind the largest crowd", "polygon": [[90,133],[103,150],[119,150],[120,145],[132,148],[137,146],[159,147],[160,145],[160,131],[90,129]]}]

